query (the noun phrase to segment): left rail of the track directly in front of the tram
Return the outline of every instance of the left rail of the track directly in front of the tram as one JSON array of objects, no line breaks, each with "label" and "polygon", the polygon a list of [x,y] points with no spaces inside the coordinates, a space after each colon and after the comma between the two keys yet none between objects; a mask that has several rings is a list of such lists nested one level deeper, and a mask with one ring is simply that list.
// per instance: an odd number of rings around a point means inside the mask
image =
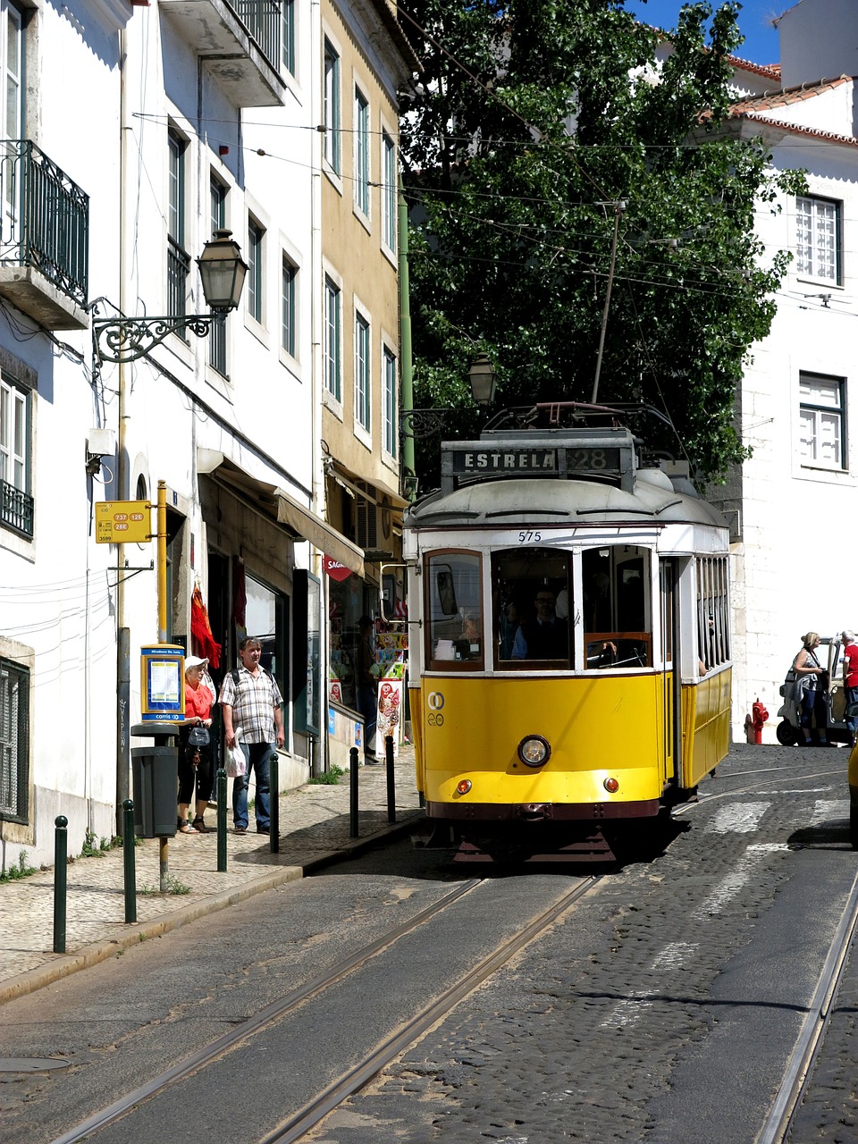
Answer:
[{"label": "left rail of the track directly in front of the tram", "polygon": [[360,950],[357,950],[349,958],[343,959],[329,969],[318,974],[304,985],[301,985],[299,988],[287,993],[285,996],[279,998],[270,1006],[261,1009],[253,1017],[243,1022],[243,1024],[237,1028],[230,1030],[230,1032],[224,1033],[223,1036],[219,1036],[215,1041],[212,1041],[210,1044],[200,1049],[199,1052],[191,1054],[190,1057],[185,1057],[184,1060],[180,1060],[178,1064],[168,1068],[159,1077],[154,1077],[145,1085],[141,1085],[140,1088],[135,1088],[134,1091],[127,1093],[106,1109],[102,1109],[100,1112],[88,1117],[74,1128],[71,1128],[67,1133],[64,1133],[62,1136],[57,1136],[51,1144],[76,1144],[77,1141],[82,1141],[90,1133],[94,1133],[100,1128],[104,1128],[106,1125],[110,1125],[114,1120],[125,1115],[125,1113],[128,1112],[128,1110],[135,1104],[140,1104],[143,1101],[157,1096],[159,1093],[165,1091],[165,1089],[175,1085],[177,1081],[181,1081],[191,1073],[205,1067],[205,1065],[210,1060],[229,1052],[230,1049],[233,1049],[238,1043],[246,1040],[248,1036],[252,1036],[254,1033],[257,1033],[261,1028],[264,1028],[265,1025],[272,1024],[292,1009],[297,1008],[297,1006],[302,1004],[309,998],[320,993],[323,990],[341,980],[343,977],[347,977],[349,974],[353,972],[353,970],[359,969],[360,966],[370,961],[371,958],[376,956],[383,950],[388,950],[402,937],[413,932],[413,930],[418,929],[418,927],[429,921],[443,909],[446,909],[466,893],[470,893],[470,891],[479,885],[482,881],[483,879],[474,877],[463,882],[461,885],[458,885],[454,890],[451,890],[448,893],[445,893],[444,897],[432,903],[431,906],[427,906],[426,909],[421,909],[420,913],[415,914],[410,921],[404,922],[396,929],[390,930],[390,932],[382,935],[375,942],[368,943]]}]

